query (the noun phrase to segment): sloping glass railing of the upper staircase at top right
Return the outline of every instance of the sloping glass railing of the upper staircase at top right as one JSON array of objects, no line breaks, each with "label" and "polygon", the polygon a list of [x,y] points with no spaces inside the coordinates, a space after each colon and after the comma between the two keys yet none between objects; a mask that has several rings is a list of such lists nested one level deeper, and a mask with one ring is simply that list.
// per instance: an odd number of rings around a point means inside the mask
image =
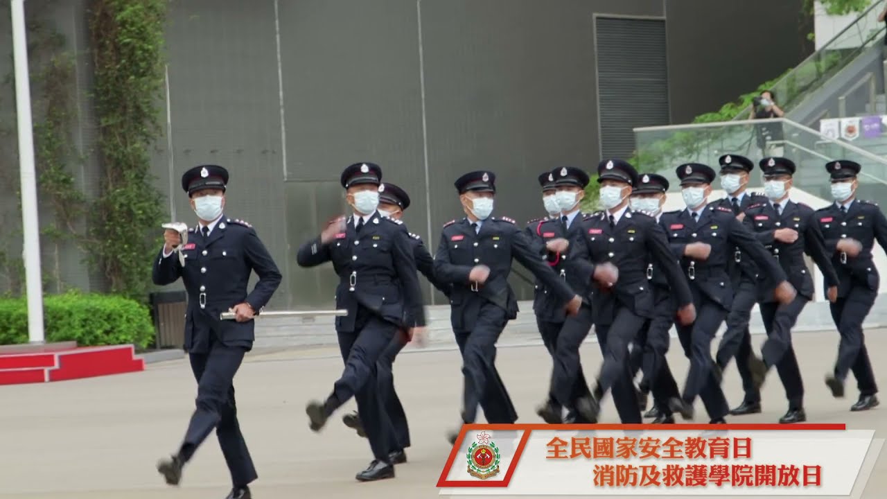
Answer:
[{"label": "sloping glass railing of the upper staircase at top right", "polygon": [[[859,18],[773,84],[776,103],[783,111],[789,112],[812,91],[820,89],[862,51],[882,43],[884,23],[878,22],[878,14],[885,4],[887,0],[877,0],[869,5]],[[746,107],[734,120],[747,120],[750,112],[751,107]]]}]

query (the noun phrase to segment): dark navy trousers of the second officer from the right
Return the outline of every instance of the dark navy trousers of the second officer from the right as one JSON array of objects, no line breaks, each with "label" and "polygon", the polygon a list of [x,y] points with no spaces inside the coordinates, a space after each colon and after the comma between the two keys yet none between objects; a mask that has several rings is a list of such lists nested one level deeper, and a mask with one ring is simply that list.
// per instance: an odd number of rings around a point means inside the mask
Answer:
[{"label": "dark navy trousers of the second officer from the right", "polygon": [[797,316],[804,310],[807,301],[807,298],[797,295],[787,305],[776,302],[758,304],[767,332],[767,339],[761,346],[761,355],[767,368],[776,367],[782,386],[785,387],[789,409],[804,407],[804,383],[801,381],[801,368],[797,365],[795,349],[791,345],[791,329],[795,327]]}]

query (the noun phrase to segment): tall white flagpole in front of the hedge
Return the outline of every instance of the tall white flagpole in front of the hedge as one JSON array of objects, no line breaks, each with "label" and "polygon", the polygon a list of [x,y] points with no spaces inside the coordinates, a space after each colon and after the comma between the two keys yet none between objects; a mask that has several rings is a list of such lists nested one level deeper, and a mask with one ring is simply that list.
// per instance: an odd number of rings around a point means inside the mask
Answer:
[{"label": "tall white flagpole in front of the hedge", "polygon": [[23,257],[27,287],[27,336],[32,344],[43,343],[43,277],[40,271],[40,225],[37,221],[37,178],[34,166],[34,135],[31,123],[31,89],[27,71],[25,0],[12,6],[12,54],[15,59],[15,102],[19,118],[19,168],[21,175],[21,222],[25,233]]}]

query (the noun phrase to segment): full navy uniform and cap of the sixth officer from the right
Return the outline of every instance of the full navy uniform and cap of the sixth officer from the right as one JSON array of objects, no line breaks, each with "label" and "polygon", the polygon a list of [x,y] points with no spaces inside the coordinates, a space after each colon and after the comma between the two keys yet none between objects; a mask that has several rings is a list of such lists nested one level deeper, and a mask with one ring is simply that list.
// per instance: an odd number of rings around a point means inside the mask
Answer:
[{"label": "full navy uniform and cap of the sixth officer from the right", "polygon": [[[598,181],[604,180],[633,187],[638,186],[639,176],[628,162],[611,160],[598,165]],[[592,294],[594,329],[604,355],[594,392],[600,400],[600,396],[612,388],[619,418],[626,424],[641,422],[628,345],[647,321],[655,317],[655,295],[647,279],[650,262],[659,265],[668,277],[679,306],[692,301],[662,228],[654,218],[632,211],[627,202],[625,199],[614,210],[586,217],[581,236],[570,244],[569,256],[572,271],[587,276],[588,281],[593,276],[590,265],[610,262],[619,270],[612,288],[595,289]],[[588,405],[577,409],[596,422],[600,412],[598,400],[587,400]]]}]

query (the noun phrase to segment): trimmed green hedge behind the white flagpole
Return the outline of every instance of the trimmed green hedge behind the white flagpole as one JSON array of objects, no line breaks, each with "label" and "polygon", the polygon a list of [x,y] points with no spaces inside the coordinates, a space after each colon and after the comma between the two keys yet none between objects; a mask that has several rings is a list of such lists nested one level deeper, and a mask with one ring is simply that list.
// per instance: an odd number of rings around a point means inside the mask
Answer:
[{"label": "trimmed green hedge behind the white flagpole", "polygon": [[[154,339],[151,311],[145,305],[126,297],[76,291],[43,297],[43,328],[47,343],[145,348]],[[26,300],[0,299],[0,345],[27,343],[27,339]]]}]

